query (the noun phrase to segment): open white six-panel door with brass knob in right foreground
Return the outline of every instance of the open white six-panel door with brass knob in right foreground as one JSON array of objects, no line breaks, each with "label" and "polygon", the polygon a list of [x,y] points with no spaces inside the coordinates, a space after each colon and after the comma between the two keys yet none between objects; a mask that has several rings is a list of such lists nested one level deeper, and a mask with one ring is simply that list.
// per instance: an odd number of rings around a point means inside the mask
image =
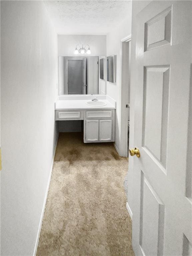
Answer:
[{"label": "open white six-panel door with brass knob in right foreground", "polygon": [[192,1],[152,1],[137,16],[137,256],[192,255],[191,16]]}]

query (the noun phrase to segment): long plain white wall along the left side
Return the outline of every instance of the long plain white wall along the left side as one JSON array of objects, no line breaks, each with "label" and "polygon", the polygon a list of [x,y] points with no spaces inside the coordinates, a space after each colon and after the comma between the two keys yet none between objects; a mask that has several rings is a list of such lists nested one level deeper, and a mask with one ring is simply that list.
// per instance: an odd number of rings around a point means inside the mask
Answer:
[{"label": "long plain white wall along the left side", "polygon": [[1,1],[1,255],[33,255],[57,134],[57,35],[43,1]]}]

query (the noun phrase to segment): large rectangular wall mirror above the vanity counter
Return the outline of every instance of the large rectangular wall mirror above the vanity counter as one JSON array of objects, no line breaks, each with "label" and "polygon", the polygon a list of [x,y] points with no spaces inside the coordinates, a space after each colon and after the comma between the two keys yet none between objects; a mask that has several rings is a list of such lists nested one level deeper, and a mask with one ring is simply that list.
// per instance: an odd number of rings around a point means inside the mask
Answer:
[{"label": "large rectangular wall mirror above the vanity counter", "polygon": [[59,56],[59,95],[105,94],[105,89],[104,92],[100,89],[99,59],[99,56]]}]

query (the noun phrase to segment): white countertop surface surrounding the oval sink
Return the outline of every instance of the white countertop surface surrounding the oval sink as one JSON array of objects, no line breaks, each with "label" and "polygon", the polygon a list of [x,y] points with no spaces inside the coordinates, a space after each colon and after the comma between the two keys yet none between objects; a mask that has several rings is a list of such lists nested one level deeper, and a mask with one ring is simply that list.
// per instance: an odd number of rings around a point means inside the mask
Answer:
[{"label": "white countertop surface surrounding the oval sink", "polygon": [[70,110],[70,109],[115,109],[115,105],[107,99],[101,99],[107,103],[105,106],[89,106],[86,104],[90,100],[57,100],[55,102],[55,110]]}]

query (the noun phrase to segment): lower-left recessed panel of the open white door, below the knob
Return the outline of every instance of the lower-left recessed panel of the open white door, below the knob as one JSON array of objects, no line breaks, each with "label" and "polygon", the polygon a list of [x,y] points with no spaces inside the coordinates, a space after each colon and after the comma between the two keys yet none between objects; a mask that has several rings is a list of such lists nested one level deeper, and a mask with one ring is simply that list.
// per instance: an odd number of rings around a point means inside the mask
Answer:
[{"label": "lower-left recessed panel of the open white door, below the knob", "polygon": [[141,171],[140,246],[146,255],[162,255],[164,204]]}]

